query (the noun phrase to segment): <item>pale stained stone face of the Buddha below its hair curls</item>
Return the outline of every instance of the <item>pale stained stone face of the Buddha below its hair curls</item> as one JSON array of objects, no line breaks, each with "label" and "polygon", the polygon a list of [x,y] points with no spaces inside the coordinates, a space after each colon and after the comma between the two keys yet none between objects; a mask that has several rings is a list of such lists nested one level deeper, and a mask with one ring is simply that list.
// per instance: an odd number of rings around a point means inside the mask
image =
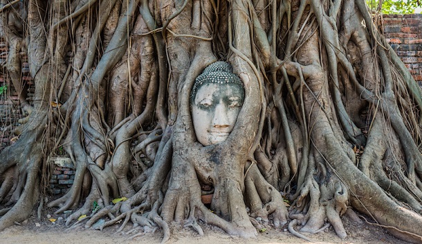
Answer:
[{"label": "pale stained stone face of the Buddha below its hair curls", "polygon": [[244,103],[244,88],[235,83],[203,84],[192,104],[196,139],[208,146],[228,138]]}]

